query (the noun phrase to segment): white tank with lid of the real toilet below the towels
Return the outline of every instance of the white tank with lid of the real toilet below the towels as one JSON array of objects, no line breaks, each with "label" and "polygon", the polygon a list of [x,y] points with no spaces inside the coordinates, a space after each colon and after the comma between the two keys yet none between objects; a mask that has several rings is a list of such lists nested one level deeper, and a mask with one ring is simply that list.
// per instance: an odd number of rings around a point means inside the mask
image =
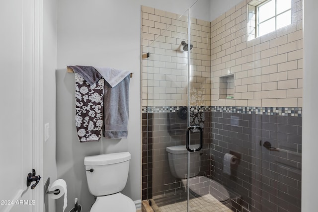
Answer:
[{"label": "white tank with lid of the real toilet below the towels", "polygon": [[94,196],[115,194],[125,188],[129,161],[129,152],[86,156],[86,170],[89,192]]}]

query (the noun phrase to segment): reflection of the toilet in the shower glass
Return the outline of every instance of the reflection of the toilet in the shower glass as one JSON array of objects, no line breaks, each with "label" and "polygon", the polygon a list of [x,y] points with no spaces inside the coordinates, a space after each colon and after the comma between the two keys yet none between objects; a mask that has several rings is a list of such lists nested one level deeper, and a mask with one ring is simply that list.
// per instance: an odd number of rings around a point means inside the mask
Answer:
[{"label": "reflection of the toilet in the shower glass", "polygon": [[[190,145],[190,148],[198,148],[199,144]],[[166,151],[168,152],[168,160],[169,160],[169,167],[170,172],[173,177],[177,179],[181,179],[181,182],[184,186],[187,185],[187,167],[188,167],[188,151],[185,145],[179,146],[169,146],[166,147]],[[201,194],[201,190],[199,187],[196,188],[195,183],[192,182],[200,182],[205,183],[208,182],[210,185],[210,194],[216,198],[219,202],[226,205],[228,208],[232,207],[230,194],[226,188],[224,188],[220,183],[211,180],[204,176],[197,176],[200,171],[200,152],[190,152],[190,193],[194,196],[203,196],[205,194]]]}]

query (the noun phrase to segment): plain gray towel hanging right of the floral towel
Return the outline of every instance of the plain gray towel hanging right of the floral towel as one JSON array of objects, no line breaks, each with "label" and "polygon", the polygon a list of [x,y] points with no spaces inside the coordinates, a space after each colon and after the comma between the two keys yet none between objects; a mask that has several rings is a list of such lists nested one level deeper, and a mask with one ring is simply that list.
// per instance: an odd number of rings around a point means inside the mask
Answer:
[{"label": "plain gray towel hanging right of the floral towel", "polygon": [[116,86],[104,85],[104,136],[106,139],[126,139],[128,135],[129,81],[127,75]]}]

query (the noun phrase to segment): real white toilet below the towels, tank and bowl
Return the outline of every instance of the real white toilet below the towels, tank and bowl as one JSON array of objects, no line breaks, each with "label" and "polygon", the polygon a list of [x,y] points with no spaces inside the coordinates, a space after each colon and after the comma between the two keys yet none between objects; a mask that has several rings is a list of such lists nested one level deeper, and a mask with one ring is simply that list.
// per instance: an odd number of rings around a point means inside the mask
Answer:
[{"label": "real white toilet below the towels, tank and bowl", "polygon": [[129,170],[129,152],[86,156],[89,192],[96,197],[90,212],[136,212],[134,201],[121,194]]}]

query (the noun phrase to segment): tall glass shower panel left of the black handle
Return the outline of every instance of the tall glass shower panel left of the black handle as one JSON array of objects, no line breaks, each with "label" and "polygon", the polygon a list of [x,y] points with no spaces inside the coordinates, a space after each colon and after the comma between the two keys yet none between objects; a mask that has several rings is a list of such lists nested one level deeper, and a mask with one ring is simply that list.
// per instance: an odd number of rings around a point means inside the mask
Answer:
[{"label": "tall glass shower panel left of the black handle", "polygon": [[162,212],[187,211],[187,26],[187,14],[142,7],[143,200]]}]

